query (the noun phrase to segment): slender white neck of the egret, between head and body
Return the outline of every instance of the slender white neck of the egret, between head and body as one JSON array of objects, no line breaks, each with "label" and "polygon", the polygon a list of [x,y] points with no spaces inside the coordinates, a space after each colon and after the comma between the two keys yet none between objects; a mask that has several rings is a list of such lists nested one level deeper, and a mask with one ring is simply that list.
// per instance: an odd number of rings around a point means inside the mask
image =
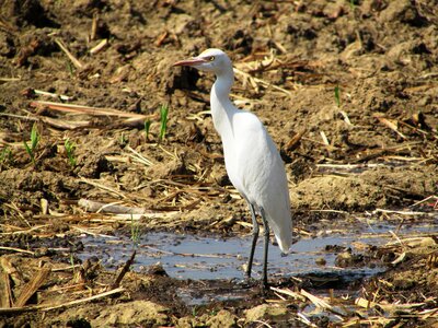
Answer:
[{"label": "slender white neck of the egret, between head and body", "polygon": [[211,116],[216,130],[221,137],[232,130],[232,115],[238,112],[230,101],[230,91],[234,82],[232,68],[217,74],[211,87]]}]

